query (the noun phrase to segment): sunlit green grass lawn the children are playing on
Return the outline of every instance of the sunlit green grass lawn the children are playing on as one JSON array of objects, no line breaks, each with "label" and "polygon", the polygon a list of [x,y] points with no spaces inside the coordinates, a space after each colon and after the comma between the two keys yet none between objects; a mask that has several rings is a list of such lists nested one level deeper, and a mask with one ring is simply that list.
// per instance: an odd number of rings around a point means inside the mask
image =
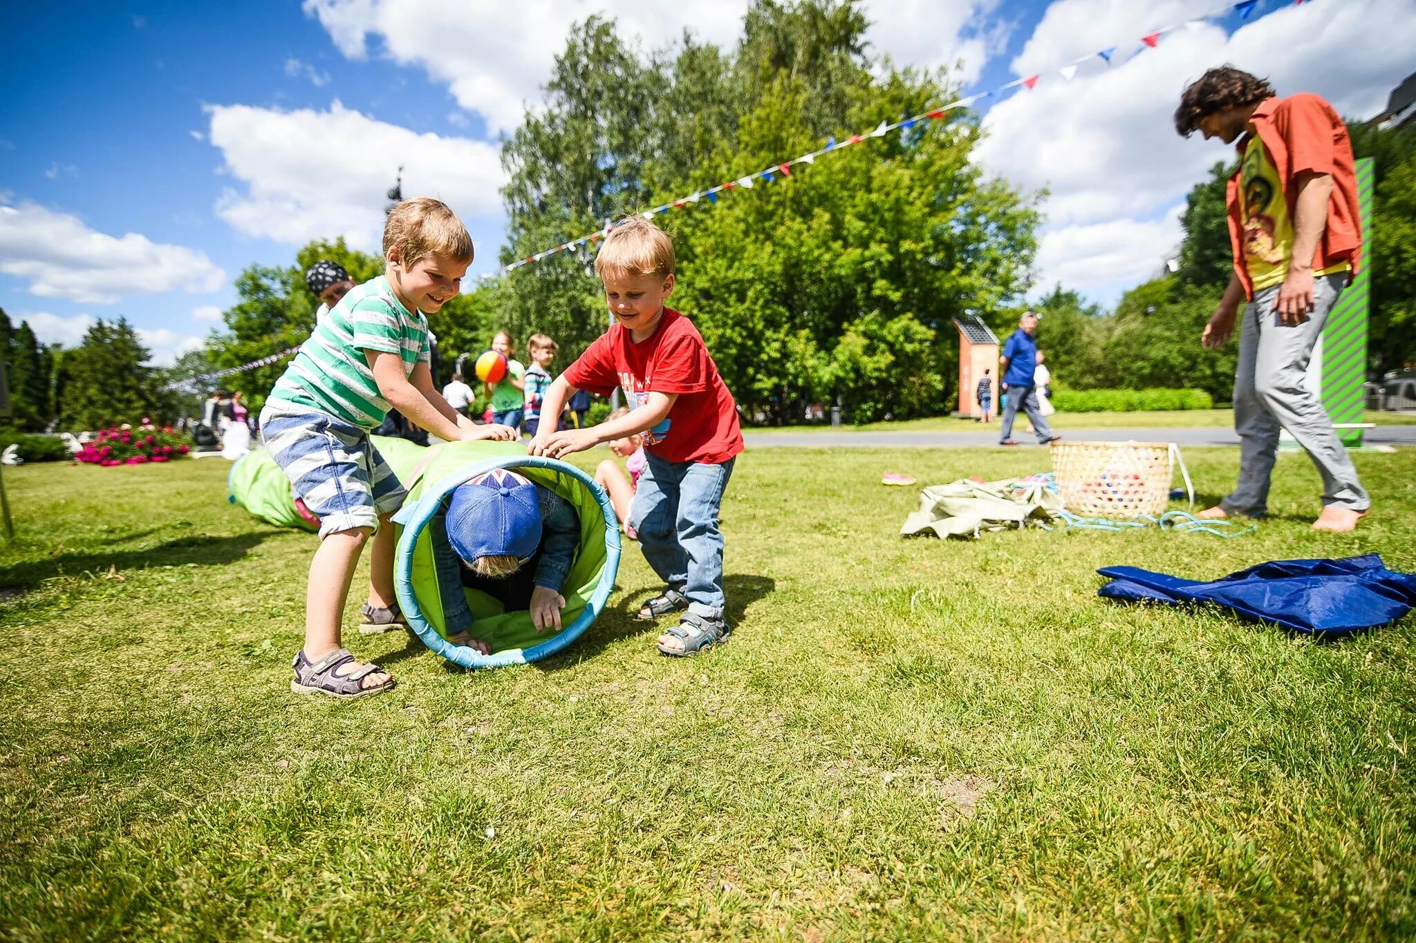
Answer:
[{"label": "sunlit green grass lawn the children are playing on", "polygon": [[[586,464],[600,458],[595,454]],[[1188,450],[1197,485],[1238,450]],[[530,667],[289,693],[314,539],[228,465],[4,472],[4,939],[1412,939],[1416,618],[1342,643],[1096,597],[1100,566],[1416,568],[1416,450],[1376,509],[1233,540],[902,540],[920,484],[1041,450],[758,450],[724,508],[736,632],[692,660],[629,611]],[[362,578],[361,578],[362,581]]]}]

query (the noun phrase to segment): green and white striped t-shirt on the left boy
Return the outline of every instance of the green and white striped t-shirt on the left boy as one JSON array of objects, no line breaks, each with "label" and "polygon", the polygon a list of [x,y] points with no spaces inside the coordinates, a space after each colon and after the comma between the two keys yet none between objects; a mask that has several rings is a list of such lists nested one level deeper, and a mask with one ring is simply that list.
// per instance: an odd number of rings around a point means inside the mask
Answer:
[{"label": "green and white striped t-shirt on the left boy", "polygon": [[266,403],[282,410],[316,409],[361,428],[388,416],[364,351],[398,353],[404,375],[432,359],[428,320],[399,304],[388,279],[378,276],[351,288],[316,325]]}]

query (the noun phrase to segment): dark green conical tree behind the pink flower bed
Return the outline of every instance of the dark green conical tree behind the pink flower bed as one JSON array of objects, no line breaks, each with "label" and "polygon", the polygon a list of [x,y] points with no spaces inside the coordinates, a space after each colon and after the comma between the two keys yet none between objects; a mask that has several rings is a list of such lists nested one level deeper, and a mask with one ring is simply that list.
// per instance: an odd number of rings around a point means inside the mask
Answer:
[{"label": "dark green conical tree behind the pink flower bed", "polygon": [[143,366],[149,356],[125,318],[93,324],[64,356],[62,426],[78,431],[156,418],[160,394],[156,372]]}]

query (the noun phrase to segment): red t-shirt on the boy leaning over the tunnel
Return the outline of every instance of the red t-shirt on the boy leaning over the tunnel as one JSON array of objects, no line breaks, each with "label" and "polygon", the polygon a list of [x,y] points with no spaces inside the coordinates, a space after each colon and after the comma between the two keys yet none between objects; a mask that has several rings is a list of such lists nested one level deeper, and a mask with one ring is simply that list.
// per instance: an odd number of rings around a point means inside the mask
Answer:
[{"label": "red t-shirt on the boy leaning over the tunnel", "polygon": [[619,386],[629,407],[650,393],[677,393],[668,417],[644,433],[644,448],[671,462],[725,462],[742,451],[738,404],[694,322],[664,308],[658,327],[636,342],[622,324],[595,339],[565,372],[571,386],[609,396]]}]

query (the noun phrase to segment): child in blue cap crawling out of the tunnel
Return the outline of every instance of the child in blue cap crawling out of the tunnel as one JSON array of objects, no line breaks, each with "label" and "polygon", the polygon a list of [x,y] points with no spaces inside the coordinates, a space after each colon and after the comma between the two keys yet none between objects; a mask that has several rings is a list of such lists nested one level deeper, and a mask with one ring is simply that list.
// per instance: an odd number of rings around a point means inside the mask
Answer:
[{"label": "child in blue cap crawling out of the tunnel", "polygon": [[561,590],[581,541],[581,519],[571,502],[497,468],[453,491],[429,533],[449,642],[491,655],[474,638],[464,587],[486,592],[508,612],[530,611],[541,632],[561,631]]}]

